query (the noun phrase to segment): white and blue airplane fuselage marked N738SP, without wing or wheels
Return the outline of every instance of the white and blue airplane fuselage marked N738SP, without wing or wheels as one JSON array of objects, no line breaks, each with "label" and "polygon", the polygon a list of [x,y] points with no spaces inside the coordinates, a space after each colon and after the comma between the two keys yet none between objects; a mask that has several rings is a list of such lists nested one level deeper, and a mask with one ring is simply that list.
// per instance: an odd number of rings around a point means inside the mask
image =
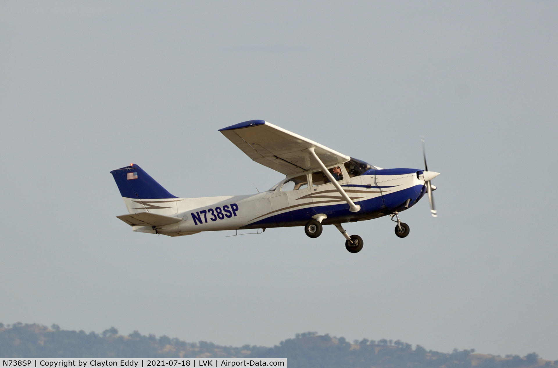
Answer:
[{"label": "white and blue airplane fuselage marked N738SP, without wing or wheels", "polygon": [[[182,219],[170,225],[134,226],[134,231],[180,236],[200,231],[300,226],[318,214],[326,215],[324,224],[368,220],[405,210],[424,195],[425,180],[420,170],[377,170],[372,175],[349,177],[343,165],[341,168],[343,179],[338,183],[360,205],[358,212],[348,210],[349,205],[332,183],[312,182],[312,172],[319,170],[288,175],[273,190],[254,195],[155,200],[124,197],[124,202],[130,213],[150,212]],[[302,175],[307,176],[306,187],[282,188],[283,183]]]}]

